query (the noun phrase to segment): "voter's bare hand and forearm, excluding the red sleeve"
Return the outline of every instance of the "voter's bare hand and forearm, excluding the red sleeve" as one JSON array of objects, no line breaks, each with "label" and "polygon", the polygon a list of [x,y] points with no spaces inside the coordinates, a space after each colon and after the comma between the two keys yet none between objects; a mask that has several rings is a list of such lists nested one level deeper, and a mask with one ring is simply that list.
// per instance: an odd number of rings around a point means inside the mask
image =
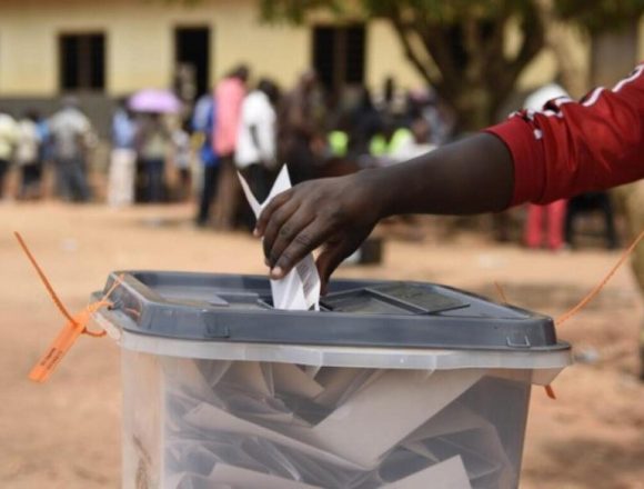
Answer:
[{"label": "voter's bare hand and forearm, excluding the red sleeve", "polygon": [[256,234],[264,237],[273,278],[324,244],[318,267],[326,282],[380,219],[499,211],[509,204],[512,188],[505,144],[495,136],[476,134],[407,163],[295,186],[264,209]]}]

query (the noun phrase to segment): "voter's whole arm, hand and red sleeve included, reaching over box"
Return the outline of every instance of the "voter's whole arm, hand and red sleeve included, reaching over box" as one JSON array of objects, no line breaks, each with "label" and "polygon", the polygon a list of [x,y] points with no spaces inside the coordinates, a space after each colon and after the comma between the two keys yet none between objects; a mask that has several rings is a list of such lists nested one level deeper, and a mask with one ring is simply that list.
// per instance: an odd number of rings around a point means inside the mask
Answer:
[{"label": "voter's whole arm, hand and red sleeve included, reaching over box", "polygon": [[256,234],[271,277],[320,246],[323,281],[394,213],[476,213],[549,202],[644,177],[644,66],[581,102],[522,112],[395,167],[305,182],[275,197]]}]

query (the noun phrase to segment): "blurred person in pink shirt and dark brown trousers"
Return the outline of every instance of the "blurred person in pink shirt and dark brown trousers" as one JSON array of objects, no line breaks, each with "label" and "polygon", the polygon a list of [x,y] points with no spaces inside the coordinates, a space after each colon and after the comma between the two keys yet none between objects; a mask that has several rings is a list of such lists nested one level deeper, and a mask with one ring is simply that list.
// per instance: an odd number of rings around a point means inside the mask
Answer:
[{"label": "blurred person in pink shirt and dark brown trousers", "polygon": [[218,229],[232,229],[235,224],[241,187],[235,174],[234,151],[248,79],[248,67],[240,64],[215,89],[217,123],[213,129],[213,143],[220,162],[214,216]]}]

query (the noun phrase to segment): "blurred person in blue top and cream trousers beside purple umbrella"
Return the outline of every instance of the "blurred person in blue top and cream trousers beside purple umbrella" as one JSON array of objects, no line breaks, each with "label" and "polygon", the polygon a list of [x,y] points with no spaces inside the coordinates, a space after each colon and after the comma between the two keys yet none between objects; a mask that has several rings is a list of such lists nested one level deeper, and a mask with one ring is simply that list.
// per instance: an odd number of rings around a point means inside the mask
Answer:
[{"label": "blurred person in blue top and cream trousers beside purple umbrella", "polygon": [[120,100],[112,118],[112,151],[108,177],[108,204],[110,207],[131,206],[134,202],[135,134],[134,116],[128,109],[127,101]]}]

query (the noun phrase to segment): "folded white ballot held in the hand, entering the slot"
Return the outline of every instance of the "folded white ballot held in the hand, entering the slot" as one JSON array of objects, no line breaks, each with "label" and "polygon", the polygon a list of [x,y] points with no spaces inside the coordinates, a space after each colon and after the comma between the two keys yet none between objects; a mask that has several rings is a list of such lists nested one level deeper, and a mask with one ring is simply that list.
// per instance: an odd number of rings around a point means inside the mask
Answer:
[{"label": "folded white ballot held in the hand, entering the slot", "polygon": [[[249,184],[238,172],[242,189],[253,210],[255,218],[269,204],[269,202],[284,190],[291,188],[291,179],[289,178],[289,170],[284,164],[280,170],[280,174],[273,183],[273,188],[262,203],[258,202],[255,196],[249,188]],[[271,280],[271,291],[273,293],[273,307],[275,309],[291,309],[291,310],[309,310],[311,308],[320,309],[320,276],[315,268],[315,260],[313,255],[309,253],[302,261],[300,261],[293,269],[281,280]]]}]

